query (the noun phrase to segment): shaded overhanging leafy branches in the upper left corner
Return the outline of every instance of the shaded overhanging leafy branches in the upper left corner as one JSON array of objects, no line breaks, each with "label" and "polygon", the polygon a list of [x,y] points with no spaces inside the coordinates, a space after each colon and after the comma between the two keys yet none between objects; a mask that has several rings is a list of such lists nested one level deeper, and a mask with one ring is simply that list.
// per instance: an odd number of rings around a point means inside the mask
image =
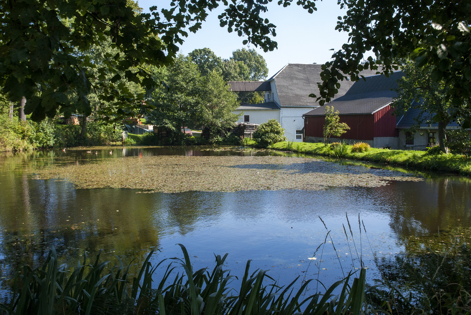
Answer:
[{"label": "shaded overhanging leafy branches in the upper left corner", "polygon": [[[292,0],[283,0],[287,6]],[[14,102],[26,97],[25,113],[32,120],[52,118],[57,111],[70,116],[73,112],[89,116],[91,75],[87,67],[97,69],[97,78],[113,73],[104,90],[113,90],[120,79],[134,82],[147,90],[158,82],[147,65],[171,65],[187,30],[196,32],[208,11],[226,6],[219,16],[221,26],[239,36],[243,44],[252,43],[265,51],[276,48],[270,38],[276,36],[275,25],[260,17],[267,8],[259,1],[242,0],[238,5],[224,0],[171,1],[169,9],[139,13],[135,4],[126,0],[30,0],[0,2],[0,86]],[[310,12],[314,2],[297,2]],[[106,55],[94,64],[85,53],[92,46],[111,40],[115,55]],[[122,74],[124,73],[124,76]],[[106,87],[106,85],[108,85]],[[73,93],[71,93],[73,91]],[[120,94],[120,86],[115,94]],[[134,101],[134,100],[133,100]],[[114,114],[128,117],[142,110],[142,102],[123,104]]]}]

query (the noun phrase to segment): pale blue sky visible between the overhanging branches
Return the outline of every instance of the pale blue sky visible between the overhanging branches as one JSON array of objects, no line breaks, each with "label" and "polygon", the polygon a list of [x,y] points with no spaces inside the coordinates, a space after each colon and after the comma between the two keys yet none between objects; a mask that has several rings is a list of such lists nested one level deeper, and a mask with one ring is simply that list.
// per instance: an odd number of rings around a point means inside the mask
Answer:
[{"label": "pale blue sky visible between the overhanging branches", "polygon": [[[170,0],[140,0],[139,6],[148,12],[148,8],[156,5],[159,8],[168,7]],[[317,11],[309,14],[307,10],[296,5],[283,8],[277,5],[277,0],[268,4],[268,12],[263,18],[268,18],[270,23],[276,25],[276,37],[278,49],[271,52],[263,52],[268,65],[268,77],[275,74],[286,63],[325,63],[331,59],[333,51],[341,49],[342,44],[348,40],[348,33],[335,31],[337,16],[345,15],[337,5],[337,0],[316,1]],[[189,33],[180,52],[188,54],[196,48],[208,47],[216,55],[229,58],[232,51],[242,48],[244,37],[239,37],[235,32],[228,33],[226,28],[219,26],[218,15],[223,11],[223,6],[211,12],[202,29],[196,33]],[[247,47],[247,46],[245,46]],[[255,48],[253,46],[249,46]]]}]

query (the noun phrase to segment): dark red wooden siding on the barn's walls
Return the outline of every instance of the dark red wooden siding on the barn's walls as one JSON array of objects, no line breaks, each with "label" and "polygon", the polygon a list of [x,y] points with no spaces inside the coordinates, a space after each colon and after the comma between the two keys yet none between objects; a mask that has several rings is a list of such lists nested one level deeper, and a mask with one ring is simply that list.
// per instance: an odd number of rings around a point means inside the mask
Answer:
[{"label": "dark red wooden siding on the barn's walls", "polygon": [[[350,127],[342,139],[373,140],[373,115],[340,115],[340,122]],[[306,137],[323,137],[324,116],[308,116],[304,120]]]}]

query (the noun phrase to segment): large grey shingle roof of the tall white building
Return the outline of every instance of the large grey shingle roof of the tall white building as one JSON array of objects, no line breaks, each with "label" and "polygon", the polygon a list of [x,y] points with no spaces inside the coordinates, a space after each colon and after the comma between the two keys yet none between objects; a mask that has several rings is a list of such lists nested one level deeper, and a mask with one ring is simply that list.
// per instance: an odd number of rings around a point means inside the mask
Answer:
[{"label": "large grey shingle roof of the tall white building", "polygon": [[[268,80],[275,79],[276,90],[281,106],[318,106],[318,102],[308,95],[314,93],[319,96],[317,84],[322,82],[320,73],[321,64],[288,63]],[[374,75],[376,71],[365,70],[364,76]],[[339,93],[335,97],[344,95],[353,85],[352,81],[340,81]]]}]

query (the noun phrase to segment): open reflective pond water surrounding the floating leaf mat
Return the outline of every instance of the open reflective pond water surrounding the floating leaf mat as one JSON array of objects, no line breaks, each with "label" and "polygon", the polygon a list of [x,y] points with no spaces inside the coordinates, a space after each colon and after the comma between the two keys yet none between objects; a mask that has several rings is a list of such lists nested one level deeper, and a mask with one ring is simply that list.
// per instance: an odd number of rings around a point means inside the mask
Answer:
[{"label": "open reflective pond water surrounding the floating leaf mat", "polygon": [[[425,181],[392,181],[387,186],[335,187],[320,191],[257,190],[137,194],[135,189],[74,189],[66,181],[37,180],[34,169],[51,164],[103,163],[107,158],[148,155],[250,155],[268,152],[211,151],[185,148],[97,148],[33,152],[0,157],[0,277],[9,278],[24,263],[41,263],[51,245],[61,263],[75,264],[86,249],[104,249],[112,257],[143,260],[149,248],[160,248],[154,260],[180,255],[176,243],[185,244],[197,266],[211,266],[213,253],[229,252],[229,268],[252,266],[272,269],[270,275],[286,283],[297,275],[325,283],[341,276],[337,256],[349,268],[348,243],[342,230],[349,214],[359,243],[357,214],[380,257],[394,257],[407,248],[398,240],[470,226],[470,179],[434,176]],[[82,152],[83,151],[83,152]],[[92,151],[93,152],[93,151]],[[337,164],[315,162],[335,174]],[[358,166],[370,172],[368,168]],[[375,170],[390,172],[389,170]],[[325,239],[321,216],[340,252],[327,244],[324,269],[306,272],[307,258]],[[363,236],[364,237],[364,236]],[[358,246],[358,245],[357,245]],[[412,248],[412,247],[411,247]],[[363,239],[361,249],[370,279],[377,277],[373,253]],[[368,256],[370,255],[370,256]],[[373,264],[373,265],[372,265]]]}]

